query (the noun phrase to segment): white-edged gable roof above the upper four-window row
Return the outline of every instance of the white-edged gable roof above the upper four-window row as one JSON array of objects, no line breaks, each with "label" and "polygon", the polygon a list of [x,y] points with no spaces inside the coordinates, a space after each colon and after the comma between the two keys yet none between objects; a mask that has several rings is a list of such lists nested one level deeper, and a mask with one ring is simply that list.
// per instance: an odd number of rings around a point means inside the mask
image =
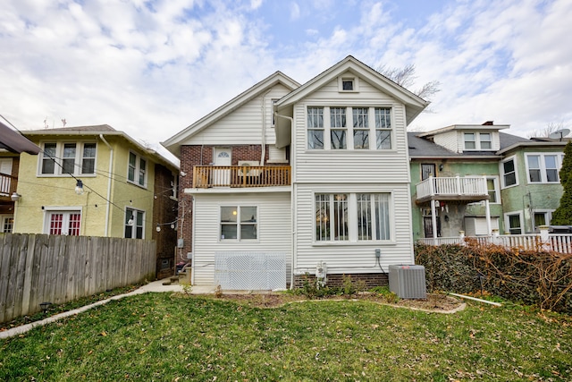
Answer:
[{"label": "white-edged gable roof above the upper four-window row", "polygon": [[356,74],[357,77],[361,77],[368,81],[368,83],[375,88],[380,89],[391,97],[400,100],[406,108],[407,124],[411,123],[416,116],[429,105],[429,102],[425,101],[425,99],[416,96],[416,94],[391,81],[380,72],[375,71],[371,67],[357,60],[355,57],[348,55],[338,64],[333,65],[331,68],[315,76],[312,80],[307,81],[298,89],[291,91],[290,94],[279,99],[278,102],[276,102],[276,108],[282,109],[293,105],[344,72],[352,72]]}]

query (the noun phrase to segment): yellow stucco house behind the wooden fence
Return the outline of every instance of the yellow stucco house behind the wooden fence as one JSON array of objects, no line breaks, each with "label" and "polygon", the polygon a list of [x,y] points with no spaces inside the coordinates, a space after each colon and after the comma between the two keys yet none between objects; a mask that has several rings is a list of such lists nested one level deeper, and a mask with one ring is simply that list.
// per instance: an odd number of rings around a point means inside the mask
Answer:
[{"label": "yellow stucco house behind the wooden fence", "polygon": [[178,166],[105,124],[23,134],[41,152],[21,157],[14,233],[156,240],[174,273]]}]

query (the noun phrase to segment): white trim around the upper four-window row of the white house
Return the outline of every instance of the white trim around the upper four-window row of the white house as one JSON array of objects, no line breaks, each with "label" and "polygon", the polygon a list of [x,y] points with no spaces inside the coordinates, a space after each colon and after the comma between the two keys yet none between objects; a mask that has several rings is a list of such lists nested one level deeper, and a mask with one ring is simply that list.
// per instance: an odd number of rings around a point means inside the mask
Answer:
[{"label": "white trim around the upper four-window row of the white house", "polygon": [[[324,109],[324,128],[321,129],[324,132],[324,149],[308,149],[308,142],[307,142],[307,131],[308,131],[308,127],[307,127],[307,109],[308,107],[321,107]],[[346,149],[332,149],[332,137],[331,137],[331,132],[332,132],[332,123],[331,123],[331,119],[330,119],[330,108],[331,107],[342,107],[346,109],[346,127],[343,128],[346,131]],[[358,108],[367,108],[368,109],[368,113],[367,113],[367,123],[369,124],[369,149],[354,149],[354,123],[353,123],[353,108],[354,107],[358,107]],[[390,140],[391,140],[391,149],[377,149],[377,130],[375,129],[375,109],[376,108],[387,108],[390,109],[390,118],[391,118],[391,129],[383,129],[383,130],[389,130],[390,131]],[[324,105],[314,105],[314,104],[308,104],[305,106],[305,118],[304,121],[306,123],[305,125],[305,134],[306,134],[306,150],[308,152],[347,152],[347,151],[351,151],[351,152],[376,152],[376,153],[381,153],[381,152],[395,152],[395,125],[394,125],[394,121],[395,121],[395,116],[394,116],[394,110],[393,107],[391,105],[366,105],[366,104],[356,104],[356,105],[347,105],[347,104],[341,104],[341,105],[336,105],[336,103],[329,103],[329,106],[324,106]],[[334,130],[341,130],[342,128],[336,128]],[[317,129],[312,129],[312,130],[317,130]],[[357,129],[357,130],[363,130],[363,129]]]}]

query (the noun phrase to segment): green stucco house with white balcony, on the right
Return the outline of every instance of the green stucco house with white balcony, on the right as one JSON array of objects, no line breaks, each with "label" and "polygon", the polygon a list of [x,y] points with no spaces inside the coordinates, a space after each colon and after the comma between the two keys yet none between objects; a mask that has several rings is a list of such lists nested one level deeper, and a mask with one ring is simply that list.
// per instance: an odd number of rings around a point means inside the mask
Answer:
[{"label": "green stucco house with white balcony, on the right", "polygon": [[505,129],[487,122],[408,133],[415,239],[532,233],[550,224],[566,142]]}]

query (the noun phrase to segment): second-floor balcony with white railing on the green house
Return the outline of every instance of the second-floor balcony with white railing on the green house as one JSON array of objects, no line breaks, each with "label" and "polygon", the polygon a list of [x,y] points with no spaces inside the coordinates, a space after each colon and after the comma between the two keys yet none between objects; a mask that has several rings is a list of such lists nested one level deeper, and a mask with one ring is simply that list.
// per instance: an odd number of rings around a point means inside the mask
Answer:
[{"label": "second-floor balcony with white railing on the green house", "polygon": [[430,176],[416,184],[417,203],[425,203],[429,200],[465,200],[479,201],[489,199],[485,176],[454,176],[437,177]]}]

